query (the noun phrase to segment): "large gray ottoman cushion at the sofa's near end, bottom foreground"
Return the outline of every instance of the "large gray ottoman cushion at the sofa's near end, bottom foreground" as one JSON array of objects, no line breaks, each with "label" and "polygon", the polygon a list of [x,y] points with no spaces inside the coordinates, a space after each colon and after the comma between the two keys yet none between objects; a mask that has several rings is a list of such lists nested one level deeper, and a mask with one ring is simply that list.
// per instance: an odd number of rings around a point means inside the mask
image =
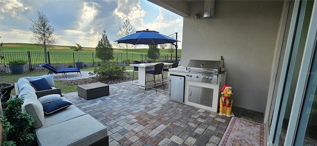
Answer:
[{"label": "large gray ottoman cushion at the sofa's near end, bottom foreground", "polygon": [[39,146],[89,146],[106,136],[106,126],[87,114],[36,132]]}]

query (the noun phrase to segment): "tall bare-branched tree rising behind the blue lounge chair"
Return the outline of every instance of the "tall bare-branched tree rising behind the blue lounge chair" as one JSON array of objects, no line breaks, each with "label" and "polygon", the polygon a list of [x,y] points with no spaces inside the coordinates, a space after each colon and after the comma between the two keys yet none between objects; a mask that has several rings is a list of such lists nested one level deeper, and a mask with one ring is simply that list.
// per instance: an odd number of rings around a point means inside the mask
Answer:
[{"label": "tall bare-branched tree rising behind the blue lounge chair", "polygon": [[31,42],[41,44],[45,51],[45,62],[48,62],[47,48],[57,43],[57,38],[53,35],[54,28],[50,25],[50,21],[43,12],[37,11],[38,17],[36,20],[31,19],[32,37]]}]

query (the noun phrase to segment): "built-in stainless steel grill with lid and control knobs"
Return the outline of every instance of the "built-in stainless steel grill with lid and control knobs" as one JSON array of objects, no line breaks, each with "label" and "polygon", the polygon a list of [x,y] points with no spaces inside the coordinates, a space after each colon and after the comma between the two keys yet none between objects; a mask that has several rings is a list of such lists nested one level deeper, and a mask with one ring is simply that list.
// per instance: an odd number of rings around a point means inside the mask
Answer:
[{"label": "built-in stainless steel grill with lid and control knobs", "polygon": [[223,60],[190,60],[186,80],[217,84],[221,68],[223,68]]}]

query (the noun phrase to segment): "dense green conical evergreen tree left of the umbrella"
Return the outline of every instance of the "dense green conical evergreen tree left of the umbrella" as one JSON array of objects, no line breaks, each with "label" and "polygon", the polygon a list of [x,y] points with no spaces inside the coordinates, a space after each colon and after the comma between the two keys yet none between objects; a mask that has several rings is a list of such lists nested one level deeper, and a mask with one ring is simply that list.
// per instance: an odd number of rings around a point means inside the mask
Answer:
[{"label": "dense green conical evergreen tree left of the umbrella", "polygon": [[113,59],[113,49],[108,40],[108,36],[106,35],[106,29],[104,29],[104,33],[101,37],[101,40],[98,41],[98,45],[96,47],[96,55],[99,59],[106,61]]}]

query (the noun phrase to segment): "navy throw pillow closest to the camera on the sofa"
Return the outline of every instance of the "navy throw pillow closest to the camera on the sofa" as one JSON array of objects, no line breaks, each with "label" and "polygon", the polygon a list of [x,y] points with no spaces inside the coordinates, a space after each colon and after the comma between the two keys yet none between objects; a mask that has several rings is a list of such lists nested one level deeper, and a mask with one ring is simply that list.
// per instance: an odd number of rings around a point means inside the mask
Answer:
[{"label": "navy throw pillow closest to the camera on the sofa", "polygon": [[51,103],[47,103],[43,105],[44,113],[53,114],[55,112],[61,111],[67,107],[72,105],[72,103],[64,101],[64,100],[56,100]]}]

